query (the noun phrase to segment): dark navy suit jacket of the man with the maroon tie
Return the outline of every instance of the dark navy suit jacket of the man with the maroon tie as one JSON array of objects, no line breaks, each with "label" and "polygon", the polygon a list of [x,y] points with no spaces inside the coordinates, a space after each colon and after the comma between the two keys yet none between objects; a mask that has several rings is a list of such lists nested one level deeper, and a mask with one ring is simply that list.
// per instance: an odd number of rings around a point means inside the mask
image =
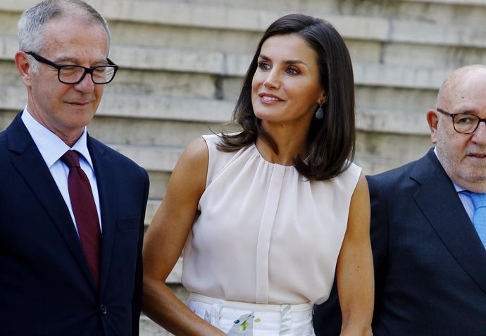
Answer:
[{"label": "dark navy suit jacket of the man with the maroon tie", "polygon": [[147,172],[88,136],[102,225],[99,292],[20,113],[0,133],[0,335],[138,335]]}]

